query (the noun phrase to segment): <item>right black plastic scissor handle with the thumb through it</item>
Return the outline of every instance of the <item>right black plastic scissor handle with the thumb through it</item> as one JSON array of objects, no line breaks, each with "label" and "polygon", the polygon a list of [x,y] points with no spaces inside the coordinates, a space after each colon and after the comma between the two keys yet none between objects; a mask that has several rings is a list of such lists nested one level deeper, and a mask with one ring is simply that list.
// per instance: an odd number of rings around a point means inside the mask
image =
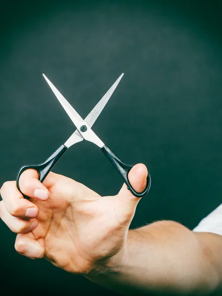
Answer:
[{"label": "right black plastic scissor handle with the thumb through it", "polygon": [[147,176],[147,186],[143,192],[137,192],[133,189],[133,187],[130,185],[129,179],[128,179],[128,173],[132,169],[133,165],[127,164],[122,162],[112,151],[109,147],[104,145],[104,147],[101,148],[103,153],[106,155],[106,157],[111,161],[112,165],[115,167],[115,169],[118,171],[118,173],[121,175],[122,179],[124,180],[125,184],[127,185],[127,189],[129,189],[133,195],[136,197],[143,197],[145,196],[150,188],[151,185],[151,178],[150,174],[148,172]]}]

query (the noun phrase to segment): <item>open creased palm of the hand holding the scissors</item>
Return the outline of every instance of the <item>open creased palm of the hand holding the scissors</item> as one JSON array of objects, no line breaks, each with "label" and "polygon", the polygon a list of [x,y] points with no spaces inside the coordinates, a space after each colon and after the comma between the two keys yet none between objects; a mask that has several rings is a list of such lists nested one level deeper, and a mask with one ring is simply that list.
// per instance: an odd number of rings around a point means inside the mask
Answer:
[{"label": "open creased palm of the hand holding the scissors", "polygon": [[39,208],[39,224],[32,235],[35,240],[44,238],[46,259],[67,271],[84,273],[119,251],[131,219],[116,196],[101,197],[66,177],[48,189],[47,201],[32,200]]}]

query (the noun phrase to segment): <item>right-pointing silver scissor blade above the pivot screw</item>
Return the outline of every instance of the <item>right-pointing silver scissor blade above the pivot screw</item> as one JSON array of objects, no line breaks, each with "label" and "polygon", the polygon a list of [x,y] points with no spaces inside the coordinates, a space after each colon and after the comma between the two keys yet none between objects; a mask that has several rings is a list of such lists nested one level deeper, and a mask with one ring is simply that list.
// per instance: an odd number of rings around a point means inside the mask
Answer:
[{"label": "right-pointing silver scissor blade above the pivot screw", "polygon": [[109,101],[111,95],[113,94],[116,86],[119,84],[124,73],[122,73],[119,78],[112,84],[111,88],[108,92],[102,97],[102,99],[97,103],[97,105],[93,108],[93,110],[85,117],[85,122],[88,124],[89,127],[92,127],[100,113],[103,111],[104,107],[106,106],[107,102]]}]

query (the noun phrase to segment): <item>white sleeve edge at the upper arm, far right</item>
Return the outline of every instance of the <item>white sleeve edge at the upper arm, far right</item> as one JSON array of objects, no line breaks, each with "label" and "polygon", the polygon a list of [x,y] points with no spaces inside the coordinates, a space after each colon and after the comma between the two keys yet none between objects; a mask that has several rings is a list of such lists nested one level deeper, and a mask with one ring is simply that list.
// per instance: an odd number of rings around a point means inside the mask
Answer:
[{"label": "white sleeve edge at the upper arm, far right", "polygon": [[222,235],[222,204],[202,219],[193,231],[213,232]]}]

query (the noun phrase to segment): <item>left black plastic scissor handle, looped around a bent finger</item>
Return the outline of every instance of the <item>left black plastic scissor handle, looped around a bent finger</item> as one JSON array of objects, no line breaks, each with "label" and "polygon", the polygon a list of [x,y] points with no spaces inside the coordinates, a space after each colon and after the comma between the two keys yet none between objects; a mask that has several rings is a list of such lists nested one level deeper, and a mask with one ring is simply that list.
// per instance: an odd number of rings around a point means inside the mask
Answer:
[{"label": "left black plastic scissor handle, looped around a bent finger", "polygon": [[[22,166],[19,169],[17,177],[16,177],[16,183],[17,183],[17,187],[18,187],[19,191],[22,193],[22,191],[19,187],[19,178],[24,171],[26,171],[28,169],[37,170],[38,175],[39,175],[38,180],[42,183],[44,181],[44,179],[46,178],[46,176],[48,175],[48,173],[54,167],[56,162],[62,157],[62,155],[66,152],[67,149],[68,148],[66,146],[62,145],[51,156],[49,156],[49,158],[47,158],[44,162],[39,163],[39,164],[30,164],[30,165]],[[27,198],[27,199],[29,198],[25,194],[23,194],[23,196],[24,196],[24,198]]]}]

